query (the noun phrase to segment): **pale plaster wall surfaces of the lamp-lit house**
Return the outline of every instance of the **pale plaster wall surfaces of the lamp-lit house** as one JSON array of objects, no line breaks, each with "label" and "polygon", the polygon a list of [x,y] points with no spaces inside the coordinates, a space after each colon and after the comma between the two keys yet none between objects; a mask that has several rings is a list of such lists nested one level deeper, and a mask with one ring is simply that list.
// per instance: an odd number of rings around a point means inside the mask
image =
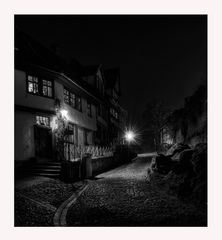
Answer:
[{"label": "pale plaster wall surfaces of the lamp-lit house", "polygon": [[[61,105],[68,110],[68,120],[80,127],[91,131],[96,131],[96,108],[92,105],[92,117],[87,115],[87,100],[82,98],[82,112],[75,110],[71,106],[64,103],[63,99],[64,86],[54,80],[54,98],[46,98],[27,93],[26,90],[26,73],[24,71],[15,70],[15,104],[17,106],[30,107],[32,109],[40,109],[37,112],[15,111],[15,159],[28,160],[35,157],[34,144],[34,127],[36,124],[36,114],[41,115],[41,110],[54,111],[55,99],[60,99]],[[45,115],[45,114],[43,114]],[[52,121],[52,118],[51,118]],[[78,131],[78,145],[84,145],[83,129]],[[89,142],[92,140],[92,132],[89,133]]]}]

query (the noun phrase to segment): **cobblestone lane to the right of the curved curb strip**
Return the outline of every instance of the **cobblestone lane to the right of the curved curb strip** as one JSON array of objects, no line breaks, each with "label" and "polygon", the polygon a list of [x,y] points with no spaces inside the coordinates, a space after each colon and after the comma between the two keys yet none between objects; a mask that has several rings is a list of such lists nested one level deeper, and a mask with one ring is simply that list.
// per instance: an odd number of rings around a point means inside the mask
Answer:
[{"label": "cobblestone lane to the right of the curved curb strip", "polygon": [[206,214],[147,179],[150,157],[97,176],[69,209],[69,226],[203,226]]}]

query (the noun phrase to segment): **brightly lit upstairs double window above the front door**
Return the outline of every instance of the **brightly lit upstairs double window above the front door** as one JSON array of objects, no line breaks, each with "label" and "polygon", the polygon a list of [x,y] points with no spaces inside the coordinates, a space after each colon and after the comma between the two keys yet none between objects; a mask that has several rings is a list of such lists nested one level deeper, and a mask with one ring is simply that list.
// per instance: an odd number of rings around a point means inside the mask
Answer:
[{"label": "brightly lit upstairs double window above the front door", "polygon": [[50,80],[41,79],[36,76],[28,75],[28,93],[43,97],[53,97],[53,82]]}]

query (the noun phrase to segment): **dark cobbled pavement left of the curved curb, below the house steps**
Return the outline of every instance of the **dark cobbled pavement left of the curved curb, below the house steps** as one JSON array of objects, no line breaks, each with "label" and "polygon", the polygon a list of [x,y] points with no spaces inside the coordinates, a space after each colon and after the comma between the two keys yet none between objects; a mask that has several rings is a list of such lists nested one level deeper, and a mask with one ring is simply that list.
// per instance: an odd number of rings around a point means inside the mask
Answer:
[{"label": "dark cobbled pavement left of the curved curb, below the house steps", "polygon": [[53,226],[57,208],[84,182],[64,183],[47,177],[27,177],[15,183],[15,226]]}]

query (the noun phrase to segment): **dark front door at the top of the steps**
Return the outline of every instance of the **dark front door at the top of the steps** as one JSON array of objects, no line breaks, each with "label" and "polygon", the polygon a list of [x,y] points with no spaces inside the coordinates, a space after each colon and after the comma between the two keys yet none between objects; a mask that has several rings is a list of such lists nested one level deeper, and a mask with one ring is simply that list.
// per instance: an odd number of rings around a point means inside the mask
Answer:
[{"label": "dark front door at the top of the steps", "polygon": [[35,154],[39,158],[52,158],[52,130],[34,126]]}]

